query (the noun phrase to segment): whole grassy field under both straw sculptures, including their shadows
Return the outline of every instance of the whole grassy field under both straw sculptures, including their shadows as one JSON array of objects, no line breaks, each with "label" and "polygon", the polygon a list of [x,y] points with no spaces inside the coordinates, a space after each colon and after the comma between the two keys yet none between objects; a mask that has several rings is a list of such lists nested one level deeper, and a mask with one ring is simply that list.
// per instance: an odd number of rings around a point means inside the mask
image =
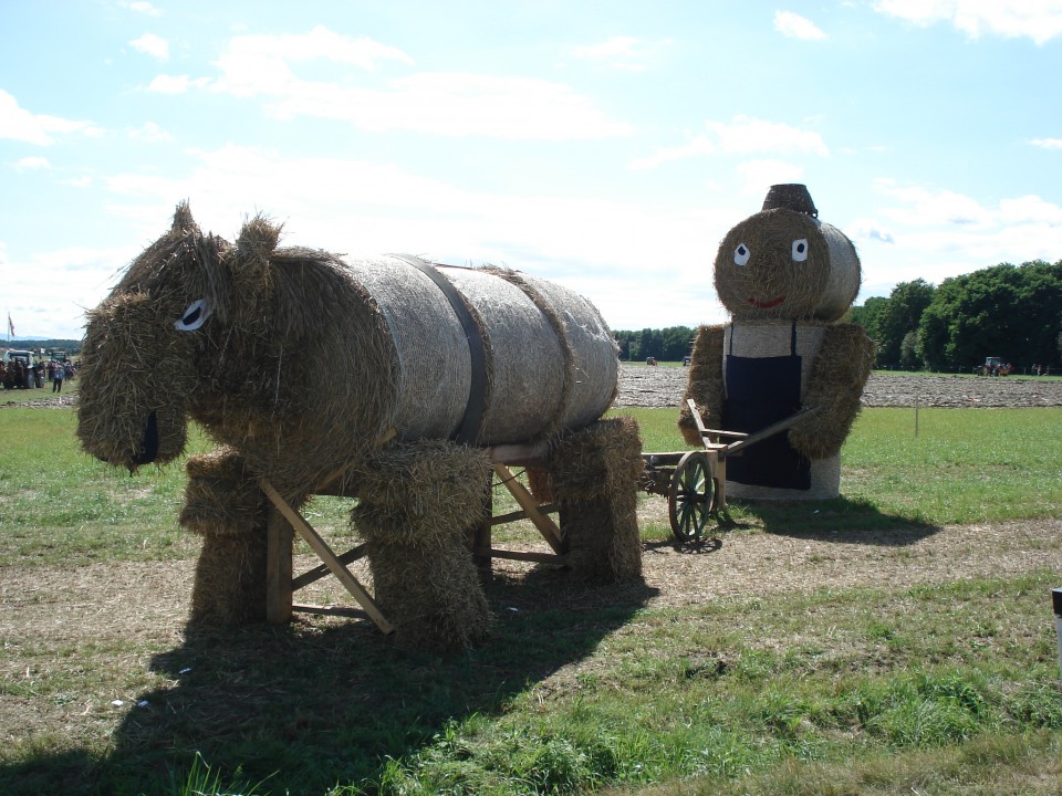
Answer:
[{"label": "whole grassy field under both straw sculptures, including their shadows", "polygon": [[[684,447],[674,410],[626,413],[645,450]],[[723,530],[725,552],[798,540],[810,562],[840,535],[903,573],[950,525],[1020,520],[968,552],[1006,567],[689,601],[659,597],[680,568],[601,589],[499,572],[493,637],[454,657],[321,617],[184,632],[152,598],[187,597],[198,549],[174,520],[180,468],[107,470],[73,428],[67,409],[0,410],[2,794],[1062,793],[1062,410],[924,409],[917,436],[912,411],[866,410],[843,498],[735,505]],[[310,512],[347,533],[340,502]],[[669,530],[648,514],[652,551]],[[929,546],[875,542],[892,536]]]}]

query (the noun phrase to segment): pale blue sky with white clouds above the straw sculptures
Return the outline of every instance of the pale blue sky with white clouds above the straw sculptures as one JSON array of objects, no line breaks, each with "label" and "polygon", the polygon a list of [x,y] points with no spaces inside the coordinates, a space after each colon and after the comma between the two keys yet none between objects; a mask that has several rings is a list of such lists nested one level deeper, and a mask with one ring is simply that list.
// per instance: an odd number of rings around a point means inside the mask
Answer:
[{"label": "pale blue sky with white clouds above the straw sculptures", "polygon": [[857,303],[1062,259],[1062,0],[0,0],[0,310],[83,316],[189,200],[233,239],[493,263],[615,329],[722,321],[768,187]]}]

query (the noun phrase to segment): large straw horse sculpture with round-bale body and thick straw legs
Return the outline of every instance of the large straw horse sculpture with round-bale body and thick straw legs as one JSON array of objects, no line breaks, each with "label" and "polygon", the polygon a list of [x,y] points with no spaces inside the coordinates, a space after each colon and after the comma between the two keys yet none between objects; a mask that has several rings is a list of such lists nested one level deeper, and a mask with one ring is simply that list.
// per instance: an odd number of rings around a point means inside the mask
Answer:
[{"label": "large straw horse sculpture with round-bale body and thick straw legs", "polygon": [[615,344],[589,302],[517,272],[347,263],[279,240],[261,217],[235,243],[205,235],[180,205],[88,314],[83,448],[131,472],[163,464],[184,453],[189,418],[220,446],[186,464],[179,521],[204,538],[194,622],[264,618],[262,480],[298,507],[331,479],[358,498],[397,636],[483,637],[467,537],[489,501],[485,446],[501,443],[550,443],[537,480],[568,501],[586,573],[641,572],[641,442],[632,422],[601,419]]}]

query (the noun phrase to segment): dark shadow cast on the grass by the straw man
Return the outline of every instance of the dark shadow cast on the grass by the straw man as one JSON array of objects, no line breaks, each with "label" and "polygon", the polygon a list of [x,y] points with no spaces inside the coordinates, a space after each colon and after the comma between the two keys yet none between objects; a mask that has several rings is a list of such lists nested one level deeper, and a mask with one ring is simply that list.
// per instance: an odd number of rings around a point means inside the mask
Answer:
[{"label": "dark shadow cast on the grass by the straw man", "polygon": [[764,533],[795,538],[892,547],[914,544],[941,530],[933,523],[884,514],[868,501],[844,496],[775,503],[736,500],[731,507],[739,516],[754,519]]}]

